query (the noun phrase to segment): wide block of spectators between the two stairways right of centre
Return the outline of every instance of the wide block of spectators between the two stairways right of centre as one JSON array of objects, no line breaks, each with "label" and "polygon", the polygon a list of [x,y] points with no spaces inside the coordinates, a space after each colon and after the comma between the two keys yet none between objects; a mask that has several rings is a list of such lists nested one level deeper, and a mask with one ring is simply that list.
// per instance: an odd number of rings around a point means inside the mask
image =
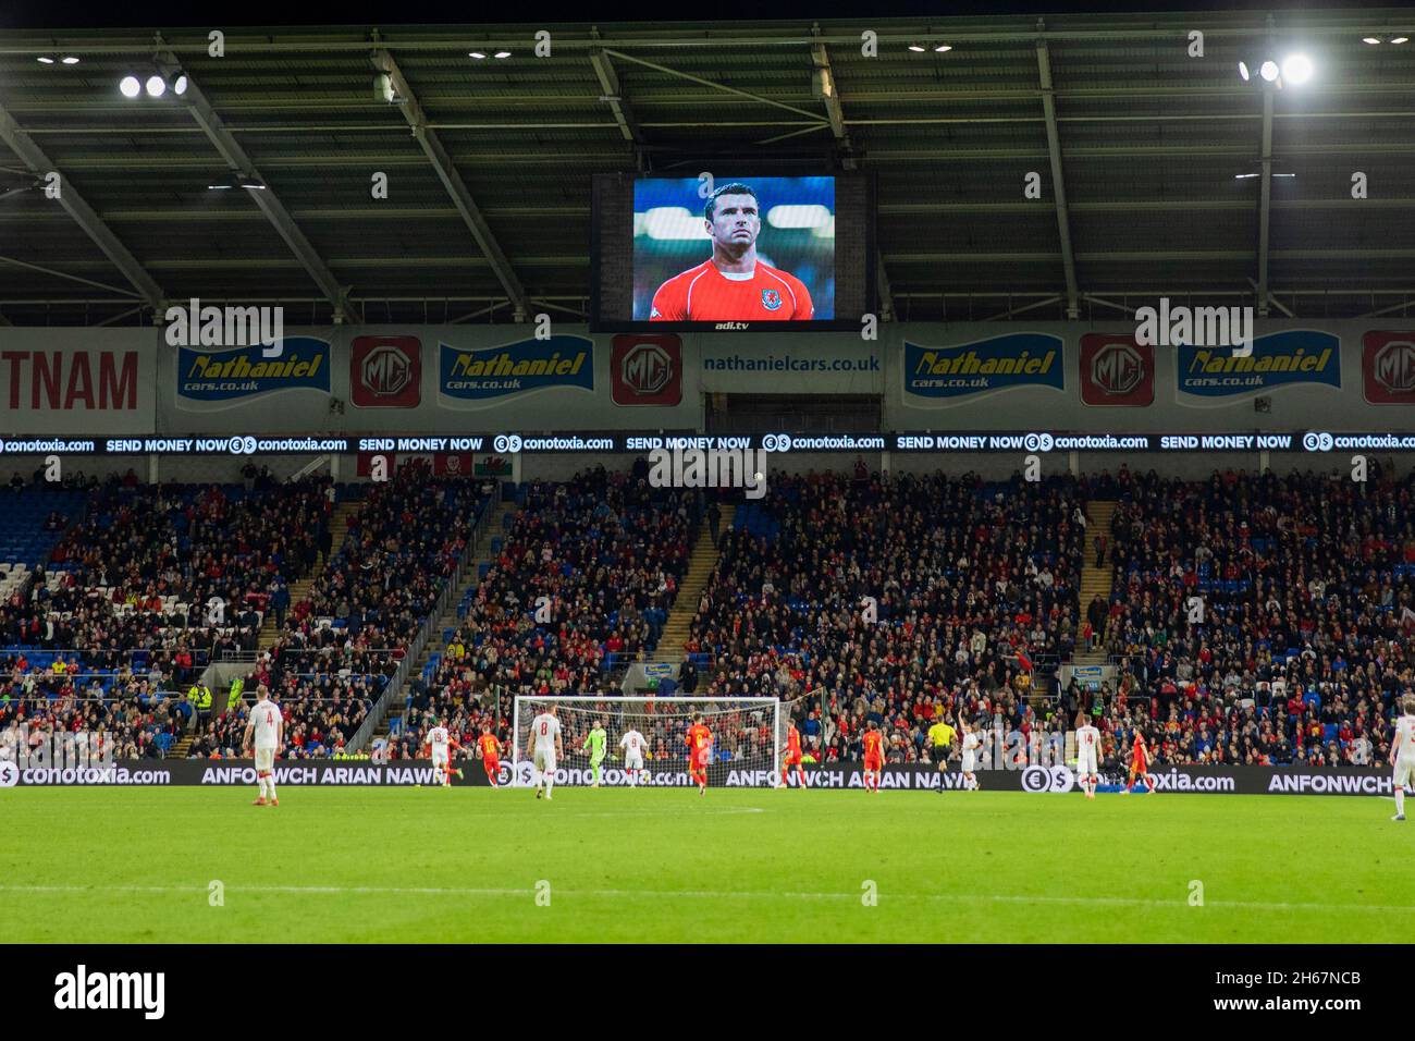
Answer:
[{"label": "wide block of spectators between the two stairways right of centre", "polygon": [[[1085,483],[976,476],[773,476],[722,558],[686,650],[703,694],[798,701],[808,752],[857,758],[867,719],[891,762],[927,758],[937,715],[1023,704],[1077,626]],[[758,530],[754,533],[753,528]]]}]

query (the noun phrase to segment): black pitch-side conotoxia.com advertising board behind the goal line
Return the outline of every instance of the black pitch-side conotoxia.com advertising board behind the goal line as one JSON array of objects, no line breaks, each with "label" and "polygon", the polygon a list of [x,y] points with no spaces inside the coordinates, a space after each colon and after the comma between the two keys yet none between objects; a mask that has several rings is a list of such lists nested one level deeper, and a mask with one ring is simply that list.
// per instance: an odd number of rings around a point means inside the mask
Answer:
[{"label": "black pitch-side conotoxia.com advertising board behind the goal line", "polygon": [[[460,762],[464,778],[453,776],[453,785],[487,786],[485,769],[477,761]],[[1382,795],[1392,792],[1391,775],[1374,768],[1347,768],[1310,770],[1282,766],[1169,766],[1157,768],[1153,775],[1156,792],[1182,795]],[[440,783],[426,759],[374,763],[369,761],[282,761],[275,766],[276,785],[280,786],[415,786]],[[584,768],[562,768],[556,770],[558,785],[589,785],[593,775]],[[610,766],[603,772],[601,783],[623,787],[630,785],[628,772]],[[641,787],[691,787],[696,782],[686,769],[665,765],[662,769],[638,772],[633,779]],[[709,768],[709,783],[713,787],[771,787],[778,775],[770,768],[717,765]],[[1125,778],[1107,773],[1108,785],[1124,785]],[[1022,769],[979,769],[978,782],[983,790],[1027,792],[1033,795],[1060,795],[1080,792],[1075,775],[1070,766],[1032,765]],[[83,768],[28,768],[20,769],[13,762],[0,761],[0,787],[20,786],[64,786],[64,785],[208,785],[208,786],[250,786],[255,787],[256,770],[250,761],[208,761],[171,759],[161,762],[129,761],[100,769]],[[535,783],[535,770],[529,762],[502,762],[498,783],[525,787]],[[795,785],[795,770],[791,772]],[[805,786],[821,789],[862,789],[865,770],[860,763],[829,763],[808,766]],[[940,775],[928,765],[887,766],[880,780],[882,789],[891,790],[957,790],[962,787],[962,775],[957,763]]]}]

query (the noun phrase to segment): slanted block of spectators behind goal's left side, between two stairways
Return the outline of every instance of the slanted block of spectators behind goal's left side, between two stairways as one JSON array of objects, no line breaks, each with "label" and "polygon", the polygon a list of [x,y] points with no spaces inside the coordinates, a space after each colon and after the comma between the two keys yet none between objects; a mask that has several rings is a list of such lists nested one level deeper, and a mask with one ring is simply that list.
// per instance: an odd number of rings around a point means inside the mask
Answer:
[{"label": "slanted block of spectators behind goal's left side, between two stairways", "polygon": [[702,513],[691,491],[604,467],[531,483],[391,758],[419,753],[429,712],[470,746],[484,718],[509,738],[516,694],[617,691],[614,664],[655,646]]}]

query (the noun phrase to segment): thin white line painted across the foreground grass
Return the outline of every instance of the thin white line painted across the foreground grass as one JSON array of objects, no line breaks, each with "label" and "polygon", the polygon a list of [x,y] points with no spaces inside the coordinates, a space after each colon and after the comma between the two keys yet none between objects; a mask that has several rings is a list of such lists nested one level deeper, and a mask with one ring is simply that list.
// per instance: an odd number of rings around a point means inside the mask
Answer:
[{"label": "thin white line painted across the foreground grass", "polygon": [[[284,892],[284,894],[376,894],[376,895],[424,895],[424,897],[535,897],[535,889],[508,888],[466,888],[432,885],[226,885],[226,892]],[[0,892],[209,892],[207,885],[25,885],[0,884]],[[719,891],[719,889],[558,889],[556,897],[593,897],[610,899],[809,899],[831,901],[860,898],[857,892],[764,892],[764,891]],[[1139,906],[1179,908],[1187,906],[1187,898],[1149,899],[1143,897],[1023,897],[995,895],[985,892],[948,894],[879,894],[883,901],[925,901],[935,904],[981,902],[981,904],[1056,904],[1078,906]],[[1387,904],[1300,904],[1268,901],[1204,901],[1206,908],[1240,908],[1247,911],[1370,911],[1378,914],[1409,914],[1409,905]]]}]

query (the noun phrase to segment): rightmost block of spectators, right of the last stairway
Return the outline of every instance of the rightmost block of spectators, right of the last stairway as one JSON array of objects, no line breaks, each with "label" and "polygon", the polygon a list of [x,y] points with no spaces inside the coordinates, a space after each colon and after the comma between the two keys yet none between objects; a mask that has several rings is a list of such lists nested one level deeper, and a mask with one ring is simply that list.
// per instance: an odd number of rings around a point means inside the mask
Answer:
[{"label": "rightmost block of spectators, right of the last stairway", "polygon": [[1068,691],[1063,711],[1092,711],[1121,759],[1139,729],[1160,763],[1384,762],[1415,678],[1412,507],[1415,477],[1122,469],[1105,629],[1119,680],[1099,700]]}]

